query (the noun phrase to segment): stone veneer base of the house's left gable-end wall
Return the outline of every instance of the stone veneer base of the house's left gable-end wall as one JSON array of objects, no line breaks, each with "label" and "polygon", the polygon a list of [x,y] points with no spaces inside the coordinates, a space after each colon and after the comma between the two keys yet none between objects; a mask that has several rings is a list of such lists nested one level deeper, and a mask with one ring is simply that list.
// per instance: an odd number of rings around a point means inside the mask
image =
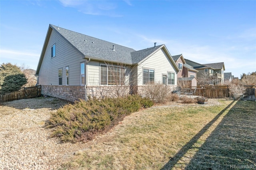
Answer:
[{"label": "stone veneer base of the house's left gable-end wall", "polygon": [[85,100],[86,90],[84,86],[43,86],[41,94],[74,102],[79,99]]}]

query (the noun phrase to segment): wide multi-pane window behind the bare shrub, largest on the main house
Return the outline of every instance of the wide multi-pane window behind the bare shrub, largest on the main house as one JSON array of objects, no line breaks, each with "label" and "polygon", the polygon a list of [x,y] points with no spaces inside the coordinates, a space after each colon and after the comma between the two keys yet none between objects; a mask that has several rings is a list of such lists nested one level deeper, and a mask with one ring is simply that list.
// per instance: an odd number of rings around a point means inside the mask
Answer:
[{"label": "wide multi-pane window behind the bare shrub, largest on the main house", "polygon": [[124,83],[125,67],[100,65],[100,84],[101,85],[120,85]]}]

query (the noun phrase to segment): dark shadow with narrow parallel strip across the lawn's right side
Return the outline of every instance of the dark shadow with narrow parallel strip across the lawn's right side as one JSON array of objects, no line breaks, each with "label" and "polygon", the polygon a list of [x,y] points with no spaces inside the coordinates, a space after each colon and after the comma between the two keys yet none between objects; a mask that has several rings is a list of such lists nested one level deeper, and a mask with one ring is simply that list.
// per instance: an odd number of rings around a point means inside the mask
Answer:
[{"label": "dark shadow with narrow parallel strip across the lawn's right side", "polygon": [[[230,103],[196,134],[162,170],[172,169],[197,140],[234,102]],[[200,146],[186,170],[256,168],[256,103],[238,101]]]}]

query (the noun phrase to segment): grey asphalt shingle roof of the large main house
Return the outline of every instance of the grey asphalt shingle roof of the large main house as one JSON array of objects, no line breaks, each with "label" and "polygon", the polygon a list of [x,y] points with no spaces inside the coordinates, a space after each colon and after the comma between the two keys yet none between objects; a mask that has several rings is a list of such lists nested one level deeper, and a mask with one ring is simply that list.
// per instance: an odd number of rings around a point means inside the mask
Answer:
[{"label": "grey asphalt shingle roof of the large main house", "polygon": [[[158,50],[160,46],[146,48],[136,51],[132,48],[121,46],[112,42],[100,40],[91,36],[66,30],[58,26],[51,25],[54,30],[59,32],[70,44],[77,48],[86,58],[104,60],[110,62],[121,62],[126,64],[136,64]],[[113,45],[114,49],[113,50]]]}]

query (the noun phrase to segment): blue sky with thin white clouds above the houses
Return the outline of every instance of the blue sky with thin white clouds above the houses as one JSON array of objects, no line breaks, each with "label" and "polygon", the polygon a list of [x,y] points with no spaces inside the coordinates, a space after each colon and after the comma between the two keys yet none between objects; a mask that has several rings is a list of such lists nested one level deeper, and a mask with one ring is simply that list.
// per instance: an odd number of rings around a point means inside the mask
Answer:
[{"label": "blue sky with thin white clouds above the houses", "polygon": [[165,44],[239,78],[256,71],[254,0],[0,0],[0,63],[36,70],[49,24],[134,50]]}]

